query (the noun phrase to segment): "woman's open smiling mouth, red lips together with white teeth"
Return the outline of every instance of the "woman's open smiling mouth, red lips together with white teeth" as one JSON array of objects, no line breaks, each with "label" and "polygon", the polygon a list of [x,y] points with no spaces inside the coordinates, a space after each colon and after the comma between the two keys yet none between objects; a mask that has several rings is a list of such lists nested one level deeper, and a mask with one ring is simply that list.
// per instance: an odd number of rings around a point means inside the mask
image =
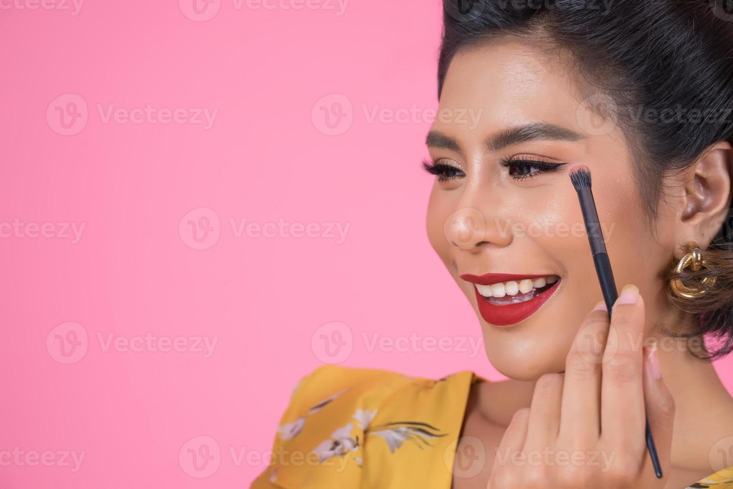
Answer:
[{"label": "woman's open smiling mouth, red lips together with white teeth", "polygon": [[494,326],[512,326],[526,320],[552,297],[561,282],[558,276],[546,273],[464,274],[460,277],[474,284],[479,313]]}]

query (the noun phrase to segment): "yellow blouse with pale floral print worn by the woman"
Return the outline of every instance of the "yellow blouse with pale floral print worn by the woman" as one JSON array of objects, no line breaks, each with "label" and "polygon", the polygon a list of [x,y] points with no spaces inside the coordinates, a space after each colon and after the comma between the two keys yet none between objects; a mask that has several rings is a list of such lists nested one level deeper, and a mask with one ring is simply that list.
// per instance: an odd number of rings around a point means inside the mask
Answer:
[{"label": "yellow blouse with pale floral print worn by the woman", "polygon": [[[292,393],[270,466],[251,489],[448,489],[471,384],[325,365]],[[733,489],[733,467],[690,488]]]}]

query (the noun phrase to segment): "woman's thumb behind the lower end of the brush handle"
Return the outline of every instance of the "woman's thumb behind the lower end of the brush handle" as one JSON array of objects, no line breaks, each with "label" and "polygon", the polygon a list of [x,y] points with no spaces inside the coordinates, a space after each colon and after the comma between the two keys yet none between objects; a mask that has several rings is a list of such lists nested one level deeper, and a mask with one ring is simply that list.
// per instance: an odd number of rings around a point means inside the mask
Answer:
[{"label": "woman's thumb behind the lower end of the brush handle", "polygon": [[[652,431],[662,473],[668,474],[674,426],[674,398],[667,389],[659,367],[659,353],[656,342],[644,348],[644,402],[647,406],[649,428]],[[649,454],[644,460],[643,470],[653,471]]]}]

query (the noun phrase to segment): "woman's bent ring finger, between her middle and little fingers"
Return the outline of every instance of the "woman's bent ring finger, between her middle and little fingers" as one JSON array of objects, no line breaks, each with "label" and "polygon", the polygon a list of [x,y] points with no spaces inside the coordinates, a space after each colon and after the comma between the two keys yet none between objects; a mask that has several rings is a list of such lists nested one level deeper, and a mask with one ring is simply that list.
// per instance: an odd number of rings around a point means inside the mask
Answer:
[{"label": "woman's bent ring finger, between her middle and little fingers", "polygon": [[559,373],[545,374],[537,379],[523,451],[541,451],[545,447],[555,446],[560,428],[562,384],[563,375]]}]

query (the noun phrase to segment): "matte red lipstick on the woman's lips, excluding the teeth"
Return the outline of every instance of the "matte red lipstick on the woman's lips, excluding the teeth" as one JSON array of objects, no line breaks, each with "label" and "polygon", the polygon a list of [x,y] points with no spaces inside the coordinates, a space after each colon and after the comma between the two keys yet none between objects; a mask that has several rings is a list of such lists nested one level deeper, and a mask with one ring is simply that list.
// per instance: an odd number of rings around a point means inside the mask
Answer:
[{"label": "matte red lipstick on the woman's lips, excluding the teeth", "polygon": [[[524,279],[539,279],[540,277],[550,276],[545,273],[544,275],[515,275],[512,273],[487,273],[485,275],[470,275],[468,273],[461,275],[460,278],[467,282],[472,282],[479,285],[492,285],[498,284],[499,282],[508,282],[509,280],[515,280],[520,282]],[[511,326],[526,320],[528,317],[537,312],[542,304],[548,301],[550,297],[557,290],[557,286],[561,280],[558,280],[554,284],[551,284],[546,290],[543,290],[537,297],[531,298],[528,301],[519,302],[517,304],[492,304],[483,295],[479,293],[474,285],[474,292],[476,293],[476,303],[479,305],[479,313],[481,317],[487,323],[493,324],[494,326]]]}]

